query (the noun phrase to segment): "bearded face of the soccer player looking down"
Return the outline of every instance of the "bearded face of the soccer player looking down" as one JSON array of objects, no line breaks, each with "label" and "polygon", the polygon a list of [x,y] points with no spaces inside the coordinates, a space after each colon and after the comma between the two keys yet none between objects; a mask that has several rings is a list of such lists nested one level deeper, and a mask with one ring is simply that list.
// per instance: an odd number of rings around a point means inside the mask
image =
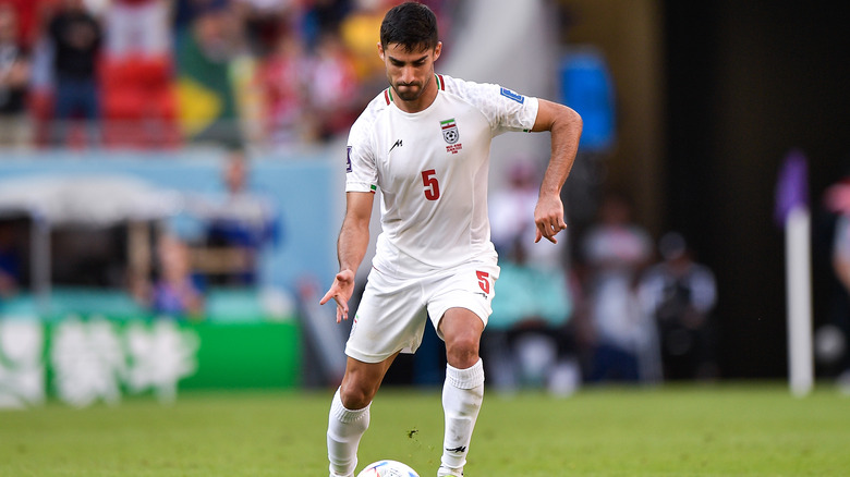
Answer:
[{"label": "bearded face of the soccer player looking down", "polygon": [[408,51],[404,46],[389,44],[382,48],[378,44],[378,52],[387,66],[387,80],[399,99],[416,102],[423,95],[430,91],[434,80],[434,62],[440,56],[442,44],[434,49]]}]

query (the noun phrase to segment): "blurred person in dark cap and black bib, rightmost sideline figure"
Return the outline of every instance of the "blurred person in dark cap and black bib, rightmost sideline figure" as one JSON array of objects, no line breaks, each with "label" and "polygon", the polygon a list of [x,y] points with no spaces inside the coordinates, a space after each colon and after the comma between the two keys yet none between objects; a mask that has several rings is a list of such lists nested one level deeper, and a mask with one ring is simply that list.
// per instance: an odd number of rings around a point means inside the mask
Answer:
[{"label": "blurred person in dark cap and black bib, rightmost sideline figure", "polygon": [[658,248],[664,260],[644,274],[640,295],[658,327],[664,378],[717,378],[714,273],[694,261],[684,237],[676,232],[665,234]]}]

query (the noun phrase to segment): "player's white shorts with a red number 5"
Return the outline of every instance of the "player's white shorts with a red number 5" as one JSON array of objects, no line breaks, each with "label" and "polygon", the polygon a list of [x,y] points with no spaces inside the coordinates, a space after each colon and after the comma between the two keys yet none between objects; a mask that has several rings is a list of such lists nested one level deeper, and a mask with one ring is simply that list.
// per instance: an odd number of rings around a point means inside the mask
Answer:
[{"label": "player's white shorts with a red number 5", "polygon": [[[415,353],[425,321],[435,330],[449,308],[466,308],[487,326],[493,313],[499,267],[474,262],[427,277],[397,278],[373,268],[363,292],[345,354],[364,363],[380,363],[397,352]],[[437,334],[442,339],[439,331]]]}]

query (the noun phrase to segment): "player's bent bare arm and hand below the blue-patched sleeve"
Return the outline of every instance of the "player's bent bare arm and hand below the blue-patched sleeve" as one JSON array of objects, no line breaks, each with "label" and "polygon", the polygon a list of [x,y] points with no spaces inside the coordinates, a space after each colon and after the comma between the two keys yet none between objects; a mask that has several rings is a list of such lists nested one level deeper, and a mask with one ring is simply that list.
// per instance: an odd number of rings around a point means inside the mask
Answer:
[{"label": "player's bent bare arm and hand below the blue-patched sleeve", "polygon": [[534,208],[534,223],[537,225],[534,242],[546,237],[551,243],[558,243],[555,235],[567,229],[561,187],[570,175],[575,152],[579,150],[582,118],[571,108],[557,102],[538,99],[538,105],[532,132],[551,132],[551,157],[543,176],[537,206]]}]

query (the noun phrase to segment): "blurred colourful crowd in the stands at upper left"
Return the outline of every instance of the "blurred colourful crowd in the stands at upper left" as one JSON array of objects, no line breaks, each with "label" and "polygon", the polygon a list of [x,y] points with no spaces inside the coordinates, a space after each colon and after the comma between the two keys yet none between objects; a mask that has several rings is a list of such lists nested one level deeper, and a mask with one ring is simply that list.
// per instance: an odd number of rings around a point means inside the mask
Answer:
[{"label": "blurred colourful crowd in the stands at upper left", "polygon": [[0,147],[329,140],[386,85],[391,3],[0,0]]}]

